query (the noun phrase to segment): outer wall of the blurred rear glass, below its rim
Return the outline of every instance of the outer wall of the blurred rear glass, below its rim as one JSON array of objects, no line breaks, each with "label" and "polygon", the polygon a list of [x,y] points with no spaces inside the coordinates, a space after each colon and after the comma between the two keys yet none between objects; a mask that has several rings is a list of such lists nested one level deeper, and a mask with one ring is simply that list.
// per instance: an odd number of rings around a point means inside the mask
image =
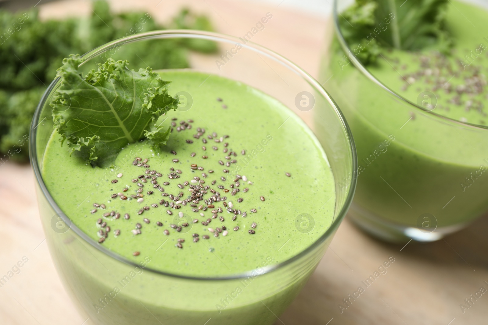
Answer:
[{"label": "outer wall of the blurred rear glass, below its rim", "polygon": [[339,17],[350,3],[334,2],[321,68],[356,141],[358,169],[349,178],[358,183],[348,216],[390,242],[441,239],[488,211],[488,128],[439,115],[432,93],[412,102],[375,78],[342,34]]}]

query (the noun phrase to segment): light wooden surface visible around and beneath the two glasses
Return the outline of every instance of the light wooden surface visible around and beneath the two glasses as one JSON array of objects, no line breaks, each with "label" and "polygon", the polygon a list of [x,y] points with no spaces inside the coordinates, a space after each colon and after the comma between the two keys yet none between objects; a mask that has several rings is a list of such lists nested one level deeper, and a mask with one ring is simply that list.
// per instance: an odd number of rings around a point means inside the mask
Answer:
[{"label": "light wooden surface visible around and beneath the two glasses", "polygon": [[[218,31],[236,36],[244,35],[271,12],[273,19],[253,41],[317,75],[326,19],[277,7],[281,1],[265,6],[224,0],[163,0],[156,7],[159,1],[113,2],[116,10],[136,7],[162,22],[187,4],[207,13]],[[82,0],[40,6],[43,17],[89,14]],[[22,257],[28,259],[20,273],[0,287],[0,324],[92,324],[81,318],[61,286],[44,241],[28,165],[8,162],[0,166],[0,224],[0,277]],[[480,287],[488,289],[487,233],[488,219],[483,218],[446,240],[411,242],[403,247],[376,241],[346,220],[304,290],[276,324],[487,324],[488,293],[477,301],[472,299],[474,303],[465,313],[460,307]],[[366,287],[362,281],[390,257],[394,262],[386,273]],[[358,287],[365,292],[355,301],[351,299],[352,304],[341,313],[339,305]]]}]

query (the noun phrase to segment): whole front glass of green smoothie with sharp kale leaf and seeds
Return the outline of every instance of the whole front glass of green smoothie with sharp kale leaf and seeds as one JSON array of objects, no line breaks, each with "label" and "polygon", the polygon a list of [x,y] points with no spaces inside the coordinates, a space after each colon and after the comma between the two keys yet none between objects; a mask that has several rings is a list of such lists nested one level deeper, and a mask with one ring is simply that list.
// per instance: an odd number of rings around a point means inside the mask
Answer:
[{"label": "whole front glass of green smoothie with sharp kale leaf and seeds", "polygon": [[[42,97],[30,154],[46,242],[95,324],[272,324],[344,218],[357,161],[342,113],[248,38],[116,40],[64,59]],[[158,42],[218,54],[163,69],[164,53],[142,60]]]}]

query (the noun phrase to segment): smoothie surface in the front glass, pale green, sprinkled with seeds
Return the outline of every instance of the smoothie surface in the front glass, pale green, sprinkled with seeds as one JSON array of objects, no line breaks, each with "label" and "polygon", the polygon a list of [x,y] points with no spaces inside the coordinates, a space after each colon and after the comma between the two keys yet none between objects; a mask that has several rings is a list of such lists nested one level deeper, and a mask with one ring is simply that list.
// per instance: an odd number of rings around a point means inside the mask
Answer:
[{"label": "smoothie surface in the front glass, pale green, sprinkled with seeds", "polygon": [[162,150],[137,142],[113,166],[92,167],[52,134],[42,175],[74,225],[135,263],[196,277],[284,262],[328,229],[334,179],[304,122],[233,80],[160,75],[189,101],[160,118],[173,128]]}]

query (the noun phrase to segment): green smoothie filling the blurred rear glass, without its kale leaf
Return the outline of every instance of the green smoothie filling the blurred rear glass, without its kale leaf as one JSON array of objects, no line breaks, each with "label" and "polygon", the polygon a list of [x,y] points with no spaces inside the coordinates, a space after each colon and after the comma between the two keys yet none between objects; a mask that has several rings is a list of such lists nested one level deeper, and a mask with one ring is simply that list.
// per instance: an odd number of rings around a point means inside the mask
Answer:
[{"label": "green smoothie filling the blurred rear glass, without its kale leaf", "polygon": [[[325,87],[345,112],[356,141],[352,215],[397,229],[421,228],[427,215],[426,232],[449,232],[486,213],[487,130],[443,116],[487,125],[487,18],[482,8],[449,1],[446,28],[454,42],[449,54],[390,49],[366,66],[386,87],[431,113],[381,89],[333,40],[323,77],[332,75]],[[381,27],[393,28],[394,19]]]}]

